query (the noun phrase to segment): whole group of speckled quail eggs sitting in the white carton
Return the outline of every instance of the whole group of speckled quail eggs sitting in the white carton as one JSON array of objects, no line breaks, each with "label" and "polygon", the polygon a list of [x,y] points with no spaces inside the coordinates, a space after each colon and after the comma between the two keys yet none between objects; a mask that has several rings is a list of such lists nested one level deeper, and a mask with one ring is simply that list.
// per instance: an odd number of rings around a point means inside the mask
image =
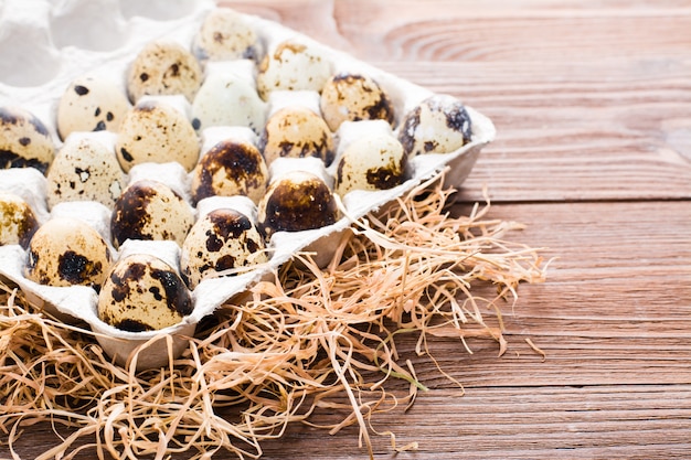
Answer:
[{"label": "whole group of speckled quail eggs sitting in the white carton", "polygon": [[[261,43],[238,21],[230,10],[212,12],[195,41],[196,56],[258,60]],[[3,193],[0,243],[28,249],[28,279],[97,289],[105,322],[129,331],[161,329],[190,313],[189,289],[205,277],[265,263],[275,232],[336,222],[332,192],[342,196],[354,189],[395,186],[405,180],[410,157],[449,152],[470,139],[463,105],[434,96],[403,117],[397,137],[393,130],[378,131],[339,152],[333,186],[306,171],[272,174],[269,183],[268,167],[278,158],[317,157],[329,167],[344,121],[380,119],[395,127],[389,97],[373,78],[329,72],[313,50],[285,42],[263,57],[256,79],[216,73],[202,81],[194,54],[172,42],[152,42],[131,63],[129,100],[105,79],[84,77],[70,85],[57,106],[57,132],[64,139],[57,154],[38,118],[20,108],[0,108],[0,165],[44,172],[49,207],[65,201],[108,206],[113,237],[104,240],[78,220],[51,218],[39,225],[25,202]],[[304,90],[319,95],[317,108],[290,104],[266,117],[272,101],[279,105],[273,95]],[[151,95],[182,95],[192,116]],[[258,140],[224,139],[200,158],[199,132],[226,125],[246,127]],[[94,130],[116,131],[116,141],[108,146],[79,136]],[[190,172],[189,202],[155,180],[126,186],[137,165],[170,161]],[[195,221],[193,206],[200,201],[236,194],[258,205],[256,220],[219,208]],[[146,255],[114,264],[113,248],[128,239],[177,242],[182,247],[179,269]]]}]

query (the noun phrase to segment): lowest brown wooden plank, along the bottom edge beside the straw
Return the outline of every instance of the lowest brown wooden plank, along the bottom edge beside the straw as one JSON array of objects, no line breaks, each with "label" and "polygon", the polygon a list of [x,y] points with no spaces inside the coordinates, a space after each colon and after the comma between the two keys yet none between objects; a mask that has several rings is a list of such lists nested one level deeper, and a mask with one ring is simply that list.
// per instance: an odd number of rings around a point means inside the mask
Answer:
[{"label": "lowest brown wooden plank, along the bottom edge beside the straw", "polygon": [[[346,415],[321,413],[315,419],[328,424]],[[396,436],[396,446],[417,442],[415,451],[395,453],[387,435],[372,435],[372,441],[378,460],[682,459],[691,449],[690,415],[689,385],[472,388],[463,397],[435,391],[419,395],[407,411],[398,407],[372,417],[380,434]],[[54,436],[46,425],[39,428],[42,439]],[[34,451],[31,441],[22,443],[24,452]],[[291,425],[262,448],[263,460],[366,458],[352,426],[329,436],[322,428]],[[92,458],[85,451],[75,460]]]}]

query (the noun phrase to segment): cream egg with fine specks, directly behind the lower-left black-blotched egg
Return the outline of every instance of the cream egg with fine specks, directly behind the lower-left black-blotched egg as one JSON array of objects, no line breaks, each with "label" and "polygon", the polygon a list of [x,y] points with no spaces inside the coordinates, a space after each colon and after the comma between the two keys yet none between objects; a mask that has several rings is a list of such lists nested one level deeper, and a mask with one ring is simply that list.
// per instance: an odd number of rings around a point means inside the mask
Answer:
[{"label": "cream egg with fine specks, directly behind the lower-left black-blotched egg", "polygon": [[125,189],[115,152],[88,137],[70,137],[47,171],[47,204],[96,201],[113,207]]}]

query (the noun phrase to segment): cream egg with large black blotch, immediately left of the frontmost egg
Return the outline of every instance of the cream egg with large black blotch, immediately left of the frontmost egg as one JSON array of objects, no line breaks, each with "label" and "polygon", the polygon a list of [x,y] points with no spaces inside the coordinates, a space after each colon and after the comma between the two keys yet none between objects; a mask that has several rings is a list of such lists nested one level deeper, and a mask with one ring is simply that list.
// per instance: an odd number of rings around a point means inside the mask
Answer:
[{"label": "cream egg with large black blotch, immediately left of the frontmost egg", "polygon": [[54,217],[29,243],[24,275],[40,285],[99,289],[110,267],[110,249],[86,222]]}]

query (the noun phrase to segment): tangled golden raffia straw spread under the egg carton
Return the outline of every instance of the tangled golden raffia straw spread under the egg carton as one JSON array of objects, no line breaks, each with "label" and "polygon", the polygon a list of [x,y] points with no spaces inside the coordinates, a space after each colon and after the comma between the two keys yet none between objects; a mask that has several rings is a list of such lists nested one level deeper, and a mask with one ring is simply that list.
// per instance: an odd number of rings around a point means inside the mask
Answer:
[{"label": "tangled golden raffia straw spread under the egg carton", "polygon": [[[23,429],[44,421],[71,434],[40,460],[89,450],[116,459],[258,458],[263,441],[289,424],[319,426],[311,416],[327,408],[342,418],[320,427],[359,426],[370,457],[371,434],[390,437],[394,451],[414,450],[372,425],[375,414],[406,409],[426,389],[411,361],[400,362],[397,338],[417,334],[415,352],[454,381],[428,339],[457,339],[468,352],[467,339],[490,339],[503,353],[500,304],[513,308],[520,282],[544,279],[539,252],[504,239],[521,225],[488,218],[489,201],[451,216],[451,193],[430,180],[357,221],[326,269],[297,255],[220,309],[160,370],[136,371],[148,345],[125,368],[113,364],[88,330],[47,317],[6,286],[0,431],[13,458]],[[496,285],[497,295],[476,295],[478,284]],[[393,379],[407,383],[407,395],[389,389]]]}]

